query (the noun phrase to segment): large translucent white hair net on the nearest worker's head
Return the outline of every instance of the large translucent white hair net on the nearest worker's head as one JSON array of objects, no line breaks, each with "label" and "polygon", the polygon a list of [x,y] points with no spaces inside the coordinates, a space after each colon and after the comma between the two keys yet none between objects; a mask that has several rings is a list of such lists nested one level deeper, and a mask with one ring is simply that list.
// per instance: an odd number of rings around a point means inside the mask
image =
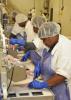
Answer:
[{"label": "large translucent white hair net on the nearest worker's head", "polygon": [[60,33],[60,26],[56,22],[44,23],[38,32],[40,38],[53,37]]}]

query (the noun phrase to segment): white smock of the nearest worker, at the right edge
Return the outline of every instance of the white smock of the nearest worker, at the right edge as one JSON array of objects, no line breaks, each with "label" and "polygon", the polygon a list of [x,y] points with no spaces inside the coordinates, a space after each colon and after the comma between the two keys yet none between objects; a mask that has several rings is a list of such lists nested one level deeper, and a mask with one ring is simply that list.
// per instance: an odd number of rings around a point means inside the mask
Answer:
[{"label": "white smock of the nearest worker, at the right edge", "polygon": [[52,52],[52,69],[59,75],[66,77],[71,96],[71,41],[59,35],[59,41]]}]

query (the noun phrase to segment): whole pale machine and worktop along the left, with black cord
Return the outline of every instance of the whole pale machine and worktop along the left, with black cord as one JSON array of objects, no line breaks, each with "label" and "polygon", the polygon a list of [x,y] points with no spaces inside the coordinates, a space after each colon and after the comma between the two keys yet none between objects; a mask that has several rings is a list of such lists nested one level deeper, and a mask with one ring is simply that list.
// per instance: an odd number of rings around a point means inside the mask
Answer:
[{"label": "whole pale machine and worktop along the left, with black cord", "polygon": [[[28,66],[28,68],[31,68],[31,64],[30,62],[28,62],[27,64],[25,62],[22,63],[18,59],[6,54],[5,38],[3,35],[3,31],[1,32],[3,46],[1,48],[2,51],[0,51],[2,100],[54,100],[54,94],[49,89],[38,90],[28,88],[28,83],[33,79],[26,76],[26,66]],[[13,75],[14,70],[15,74]],[[12,74],[10,75],[11,72]],[[24,83],[27,78],[29,79],[29,81]],[[18,82],[21,80],[24,80],[22,84],[17,85],[12,83],[12,81]]]}]

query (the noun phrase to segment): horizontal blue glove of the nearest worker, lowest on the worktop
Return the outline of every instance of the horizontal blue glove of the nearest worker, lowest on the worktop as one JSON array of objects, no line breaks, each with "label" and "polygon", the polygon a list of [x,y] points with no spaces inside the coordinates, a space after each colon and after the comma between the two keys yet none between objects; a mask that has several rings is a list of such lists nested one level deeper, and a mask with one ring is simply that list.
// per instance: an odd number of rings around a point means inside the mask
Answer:
[{"label": "horizontal blue glove of the nearest worker, lowest on the worktop", "polygon": [[32,81],[28,85],[29,88],[35,88],[35,89],[43,89],[43,88],[48,88],[48,83],[47,82],[39,82],[37,80]]}]

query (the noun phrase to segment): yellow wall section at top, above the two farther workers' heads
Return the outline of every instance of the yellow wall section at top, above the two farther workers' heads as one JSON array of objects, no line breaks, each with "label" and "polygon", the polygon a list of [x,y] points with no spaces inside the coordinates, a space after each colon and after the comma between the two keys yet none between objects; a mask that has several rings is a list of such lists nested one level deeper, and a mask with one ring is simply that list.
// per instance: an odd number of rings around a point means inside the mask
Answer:
[{"label": "yellow wall section at top, above the two farther workers' heads", "polygon": [[10,4],[13,6],[14,9],[17,9],[20,12],[27,13],[31,8],[34,7],[35,1],[35,8],[37,14],[40,13],[40,10],[43,6],[44,0],[8,0]]}]

